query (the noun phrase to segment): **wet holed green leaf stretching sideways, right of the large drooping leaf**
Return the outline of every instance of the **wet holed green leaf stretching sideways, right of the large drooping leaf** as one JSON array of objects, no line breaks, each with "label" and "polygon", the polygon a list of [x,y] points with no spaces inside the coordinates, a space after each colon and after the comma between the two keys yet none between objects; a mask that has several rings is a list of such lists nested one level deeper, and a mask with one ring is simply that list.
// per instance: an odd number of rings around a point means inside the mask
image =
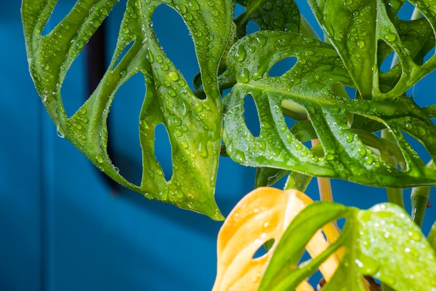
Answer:
[{"label": "wet holed green leaf stretching sideways, right of the large drooping leaf", "polygon": [[[279,77],[270,77],[272,66],[288,57],[297,58],[295,66]],[[331,45],[297,33],[259,31],[231,47],[228,70],[237,83],[226,96],[223,139],[234,161],[371,186],[436,184],[436,172],[426,167],[403,134],[422,142],[436,158],[433,122],[407,96],[392,102],[336,95],[335,84],[353,84]],[[248,95],[258,110],[257,137],[244,123],[244,98]],[[308,114],[311,126],[309,121],[299,121],[303,133],[289,130],[282,107]],[[371,131],[351,128],[349,117],[356,115],[382,124],[394,135],[396,144],[378,142],[380,138]],[[321,145],[309,149],[303,143],[308,137],[318,137]],[[405,161],[405,165],[399,169],[384,161],[367,147],[377,147],[371,140],[387,147],[380,149],[381,153],[396,153],[397,161]]]}]

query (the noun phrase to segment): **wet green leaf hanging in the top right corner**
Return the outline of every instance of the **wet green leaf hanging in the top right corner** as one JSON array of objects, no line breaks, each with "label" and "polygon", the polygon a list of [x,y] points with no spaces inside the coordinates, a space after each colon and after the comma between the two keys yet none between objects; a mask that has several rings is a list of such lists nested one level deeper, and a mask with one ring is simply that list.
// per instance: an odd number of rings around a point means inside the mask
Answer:
[{"label": "wet green leaf hanging in the top right corner", "polygon": [[[327,38],[365,99],[394,100],[436,68],[436,7],[414,1],[425,18],[400,20],[405,0],[309,0]],[[400,64],[382,73],[382,61],[395,52]]]}]

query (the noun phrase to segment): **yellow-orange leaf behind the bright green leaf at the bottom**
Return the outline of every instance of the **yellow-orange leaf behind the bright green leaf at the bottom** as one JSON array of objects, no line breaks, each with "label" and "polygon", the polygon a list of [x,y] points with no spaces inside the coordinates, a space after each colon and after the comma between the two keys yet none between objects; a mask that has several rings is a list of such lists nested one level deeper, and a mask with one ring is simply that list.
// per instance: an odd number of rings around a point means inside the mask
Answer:
[{"label": "yellow-orange leaf behind the bright green leaf at the bottom", "polygon": [[[304,207],[313,201],[297,190],[281,191],[261,187],[247,194],[224,221],[217,239],[217,277],[212,291],[255,291],[283,232]],[[325,227],[327,237],[338,237],[331,224]],[[327,230],[327,231],[326,231]],[[274,239],[274,245],[265,255],[253,258],[258,248]],[[322,232],[317,232],[306,250],[315,258],[327,248]],[[338,260],[331,256],[320,267],[326,280],[334,274]],[[297,291],[312,291],[303,281]]]}]

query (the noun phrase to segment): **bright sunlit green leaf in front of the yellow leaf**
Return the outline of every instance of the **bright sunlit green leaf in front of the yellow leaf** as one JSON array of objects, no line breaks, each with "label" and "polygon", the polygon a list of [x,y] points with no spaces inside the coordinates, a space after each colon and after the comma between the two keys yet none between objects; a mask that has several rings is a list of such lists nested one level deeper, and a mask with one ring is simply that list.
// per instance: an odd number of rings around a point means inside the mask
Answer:
[{"label": "bright sunlit green leaf in front of the yellow leaf", "polygon": [[[345,218],[340,237],[318,257],[298,266],[312,235],[338,218]],[[343,252],[341,262],[322,290],[366,291],[364,275],[398,291],[436,290],[435,251],[403,209],[395,204],[377,204],[359,210],[332,202],[315,202],[290,223],[258,290],[295,290],[339,248]]]}]

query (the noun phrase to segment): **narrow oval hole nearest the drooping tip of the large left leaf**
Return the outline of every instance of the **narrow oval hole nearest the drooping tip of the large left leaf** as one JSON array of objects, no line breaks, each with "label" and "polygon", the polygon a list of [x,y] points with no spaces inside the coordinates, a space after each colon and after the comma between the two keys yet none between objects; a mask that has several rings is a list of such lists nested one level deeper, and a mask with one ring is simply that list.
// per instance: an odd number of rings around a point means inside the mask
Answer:
[{"label": "narrow oval hole nearest the drooping tip of the large left leaf", "polygon": [[155,128],[155,157],[162,167],[166,181],[173,176],[173,160],[171,155],[171,142],[168,131],[163,124],[157,124]]}]

